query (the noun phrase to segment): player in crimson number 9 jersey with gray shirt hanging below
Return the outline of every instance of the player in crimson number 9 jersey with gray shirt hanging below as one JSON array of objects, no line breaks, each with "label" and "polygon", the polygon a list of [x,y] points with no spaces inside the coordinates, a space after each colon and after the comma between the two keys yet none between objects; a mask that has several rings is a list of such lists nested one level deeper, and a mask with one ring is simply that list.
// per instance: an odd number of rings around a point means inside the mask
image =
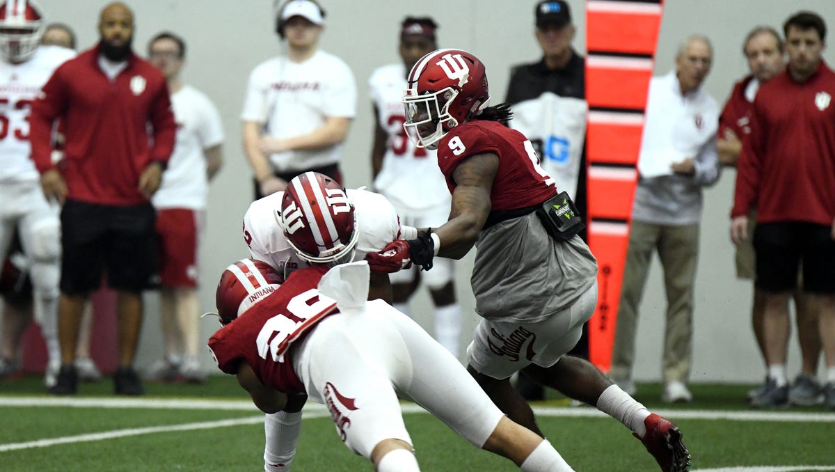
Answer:
[{"label": "player in crimson number 9 jersey with gray shirt hanging below", "polygon": [[[467,349],[468,370],[498,407],[542,435],[510,383],[521,371],[619,419],[662,470],[689,469],[675,424],[650,414],[588,361],[565,355],[595,310],[597,262],[543,207],[559,189],[524,134],[502,124],[512,116],[509,106],[484,108],[484,64],[466,51],[440,49],[423,56],[407,82],[403,126],[417,146],[438,150],[452,207],[442,226],[368,255],[372,269],[412,261],[428,270],[433,256],[457,259],[476,246],[471,280],[483,320]],[[562,204],[560,198],[554,209]]]}]

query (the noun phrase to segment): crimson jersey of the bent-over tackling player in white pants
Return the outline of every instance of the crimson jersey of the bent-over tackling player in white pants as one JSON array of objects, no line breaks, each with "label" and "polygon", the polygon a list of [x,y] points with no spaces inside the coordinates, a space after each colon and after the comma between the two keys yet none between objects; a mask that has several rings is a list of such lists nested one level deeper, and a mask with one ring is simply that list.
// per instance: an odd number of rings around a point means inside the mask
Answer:
[{"label": "crimson jersey of the bent-over tackling player in white pants", "polygon": [[316,290],[327,269],[315,266],[294,272],[275,292],[215,332],[209,349],[218,368],[234,375],[244,362],[266,386],[303,393],[289,348],[317,322],[337,313],[337,302]]}]

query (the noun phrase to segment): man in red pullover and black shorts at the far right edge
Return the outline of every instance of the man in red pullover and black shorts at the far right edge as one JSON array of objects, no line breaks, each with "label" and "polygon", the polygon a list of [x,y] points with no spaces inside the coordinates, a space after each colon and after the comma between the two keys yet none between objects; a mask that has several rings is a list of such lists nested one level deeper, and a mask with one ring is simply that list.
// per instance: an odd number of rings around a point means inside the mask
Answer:
[{"label": "man in red pullover and black shorts at the far right edge", "polygon": [[835,409],[835,107],[830,106],[835,74],[822,59],[827,28],[817,13],[793,15],[783,33],[787,70],[757,92],[751,133],[736,165],[731,211],[731,238],[739,244],[747,239],[748,215],[757,208],[755,284],[765,293],[768,377],[751,404],[789,401],[787,305],[802,267],[802,291],[817,319],[827,363],[824,398]]}]

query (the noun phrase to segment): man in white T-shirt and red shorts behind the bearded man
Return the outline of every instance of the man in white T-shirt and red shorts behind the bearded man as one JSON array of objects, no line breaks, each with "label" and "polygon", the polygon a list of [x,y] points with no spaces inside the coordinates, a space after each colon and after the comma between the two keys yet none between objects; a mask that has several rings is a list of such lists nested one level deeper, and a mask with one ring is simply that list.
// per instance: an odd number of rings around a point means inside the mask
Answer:
[{"label": "man in white T-shirt and red shorts behind the bearded man", "polygon": [[180,69],[185,41],[164,32],[148,43],[148,60],[168,80],[177,121],[174,153],[151,203],[161,258],[160,322],[165,358],[152,366],[149,378],[189,382],[205,380],[197,358],[200,349],[200,300],[197,297],[198,242],[211,180],[223,162],[223,127],[215,104],[200,90],[183,84]]}]

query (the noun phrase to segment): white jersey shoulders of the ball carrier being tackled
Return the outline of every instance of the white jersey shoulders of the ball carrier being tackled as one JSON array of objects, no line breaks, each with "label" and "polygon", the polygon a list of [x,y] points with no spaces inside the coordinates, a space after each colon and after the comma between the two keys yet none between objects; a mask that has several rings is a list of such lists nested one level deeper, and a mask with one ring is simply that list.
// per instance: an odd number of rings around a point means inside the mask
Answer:
[{"label": "white jersey shoulders of the ball carrier being tackled", "polygon": [[[347,189],[346,193],[354,206],[359,231],[354,260],[364,259],[369,252],[382,251],[389,242],[400,237],[397,211],[386,197],[362,189]],[[252,202],[244,215],[244,241],[253,259],[265,261],[276,272],[287,277],[308,264],[296,256],[296,251],[284,236],[279,213],[282,198],[284,192],[276,192]]]}]

